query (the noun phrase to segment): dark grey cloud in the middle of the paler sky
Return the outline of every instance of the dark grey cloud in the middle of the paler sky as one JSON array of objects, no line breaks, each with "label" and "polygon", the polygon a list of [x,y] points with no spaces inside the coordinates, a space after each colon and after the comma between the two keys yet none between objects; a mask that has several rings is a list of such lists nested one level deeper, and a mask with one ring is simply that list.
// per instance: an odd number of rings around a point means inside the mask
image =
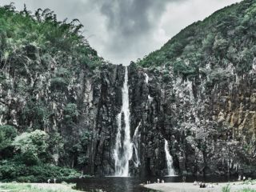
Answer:
[{"label": "dark grey cloud in the middle of the paler sky", "polygon": [[150,36],[165,11],[166,3],[174,1],[98,0],[98,6],[107,19],[107,29],[111,32],[107,46],[117,51],[120,57],[126,57],[124,54],[127,52],[142,52],[141,46],[150,41]]}]

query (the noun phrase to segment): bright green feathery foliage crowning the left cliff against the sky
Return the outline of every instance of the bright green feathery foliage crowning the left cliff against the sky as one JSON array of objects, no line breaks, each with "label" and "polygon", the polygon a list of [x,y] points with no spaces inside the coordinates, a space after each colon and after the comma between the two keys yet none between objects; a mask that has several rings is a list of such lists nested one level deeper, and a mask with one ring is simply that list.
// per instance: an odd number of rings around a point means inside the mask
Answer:
[{"label": "bright green feathery foliage crowning the left cliff against the sky", "polygon": [[38,9],[31,14],[26,6],[20,12],[13,4],[0,7],[1,69],[26,75],[26,67],[46,70],[50,60],[63,65],[68,59],[74,66],[101,63],[102,58],[82,36],[82,27],[78,19],[59,22],[49,9]]}]

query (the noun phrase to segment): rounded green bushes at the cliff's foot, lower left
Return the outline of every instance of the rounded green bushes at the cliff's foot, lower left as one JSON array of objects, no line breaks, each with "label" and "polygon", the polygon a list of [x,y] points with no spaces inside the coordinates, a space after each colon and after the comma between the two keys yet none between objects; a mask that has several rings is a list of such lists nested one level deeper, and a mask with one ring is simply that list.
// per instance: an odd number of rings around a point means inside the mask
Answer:
[{"label": "rounded green bushes at the cliff's foot, lower left", "polygon": [[54,145],[45,131],[34,130],[17,135],[12,126],[0,126],[0,178],[3,181],[46,182],[48,178],[76,178],[76,171],[47,164]]}]

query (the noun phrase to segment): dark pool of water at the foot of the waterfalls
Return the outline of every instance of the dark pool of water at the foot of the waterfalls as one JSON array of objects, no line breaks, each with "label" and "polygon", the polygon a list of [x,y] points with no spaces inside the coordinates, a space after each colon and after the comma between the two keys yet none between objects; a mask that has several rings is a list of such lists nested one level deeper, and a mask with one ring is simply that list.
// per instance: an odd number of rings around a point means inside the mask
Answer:
[{"label": "dark pool of water at the foot of the waterfalls", "polygon": [[[182,182],[182,177],[158,177],[165,182]],[[103,177],[103,178],[82,178],[75,179],[70,182],[77,183],[78,190],[84,190],[88,192],[98,192],[103,190],[106,192],[153,192],[154,190],[148,190],[141,186],[141,183],[146,181],[157,182],[158,178],[115,178],[115,177]],[[202,182],[233,182],[237,178],[226,177],[186,177],[186,182],[202,181]]]}]

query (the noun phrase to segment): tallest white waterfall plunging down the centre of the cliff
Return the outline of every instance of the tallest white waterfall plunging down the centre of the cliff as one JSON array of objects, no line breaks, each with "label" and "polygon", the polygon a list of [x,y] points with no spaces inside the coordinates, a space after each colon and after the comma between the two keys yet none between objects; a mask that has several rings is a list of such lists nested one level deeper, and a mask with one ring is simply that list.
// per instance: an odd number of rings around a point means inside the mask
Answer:
[{"label": "tallest white waterfall plunging down the centre of the cliff", "polygon": [[[125,125],[122,126],[122,114]],[[129,176],[129,160],[133,155],[133,143],[130,141],[130,110],[129,110],[129,86],[128,70],[126,66],[125,82],[122,87],[122,110],[117,116],[118,134],[114,148],[115,176]]]}]

